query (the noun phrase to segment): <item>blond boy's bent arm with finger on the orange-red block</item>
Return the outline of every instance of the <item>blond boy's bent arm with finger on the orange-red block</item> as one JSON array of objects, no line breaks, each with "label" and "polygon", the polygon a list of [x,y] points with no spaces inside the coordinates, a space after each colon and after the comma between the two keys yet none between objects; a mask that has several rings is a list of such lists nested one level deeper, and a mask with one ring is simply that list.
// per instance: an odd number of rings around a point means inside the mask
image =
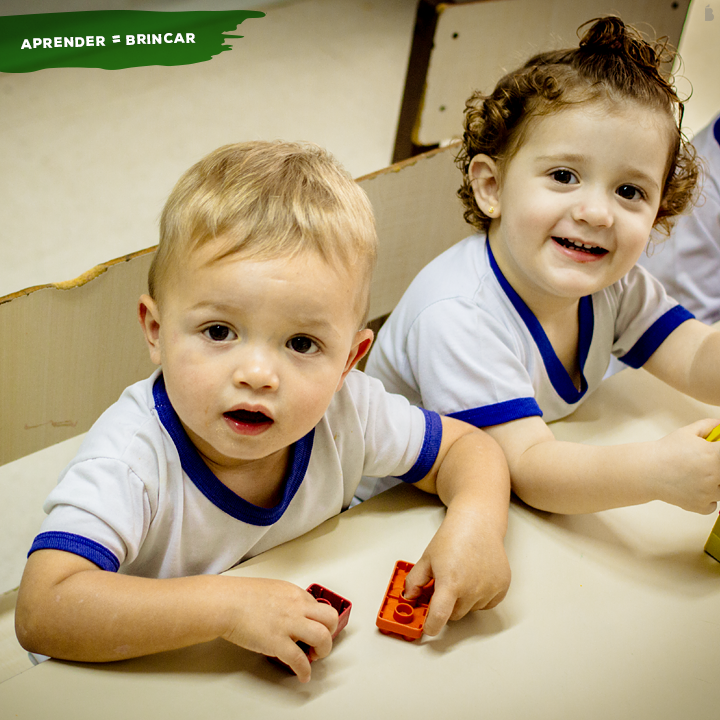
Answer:
[{"label": "blond boy's bent arm with finger on the orange-red block", "polygon": [[416,486],[436,493],[447,513],[405,584],[405,596],[412,599],[435,578],[424,628],[428,635],[470,610],[494,607],[510,585],[503,547],[510,504],[505,458],[486,433],[451,418],[442,423],[438,457]]}]

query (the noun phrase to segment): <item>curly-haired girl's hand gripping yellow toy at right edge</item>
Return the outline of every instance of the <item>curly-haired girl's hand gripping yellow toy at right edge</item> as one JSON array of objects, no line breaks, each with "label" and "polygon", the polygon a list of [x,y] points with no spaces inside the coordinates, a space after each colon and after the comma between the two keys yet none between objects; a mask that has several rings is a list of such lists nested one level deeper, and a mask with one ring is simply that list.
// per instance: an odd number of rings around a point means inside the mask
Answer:
[{"label": "curly-haired girl's hand gripping yellow toy at right edge", "polygon": [[[700,420],[658,441],[656,482],[659,499],[709,515],[720,502],[720,442],[705,437],[718,420]],[[649,478],[652,482],[653,478]]]}]

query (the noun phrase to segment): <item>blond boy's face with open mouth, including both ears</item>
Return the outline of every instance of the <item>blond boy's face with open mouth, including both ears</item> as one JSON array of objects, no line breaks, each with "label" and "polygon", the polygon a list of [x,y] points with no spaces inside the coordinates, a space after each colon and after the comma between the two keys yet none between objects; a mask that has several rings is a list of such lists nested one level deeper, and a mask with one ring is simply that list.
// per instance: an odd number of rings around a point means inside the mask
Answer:
[{"label": "blond boy's face with open mouth, including both ears", "polygon": [[306,253],[212,260],[191,253],[140,316],[170,401],[213,469],[268,458],[322,418],[372,340],[357,273]]}]

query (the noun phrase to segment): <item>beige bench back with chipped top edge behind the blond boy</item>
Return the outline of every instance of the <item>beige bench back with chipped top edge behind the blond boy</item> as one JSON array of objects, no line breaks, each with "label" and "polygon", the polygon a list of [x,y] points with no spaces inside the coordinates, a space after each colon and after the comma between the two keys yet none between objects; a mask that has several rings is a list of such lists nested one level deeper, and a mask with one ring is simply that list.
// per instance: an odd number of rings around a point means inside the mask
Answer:
[{"label": "beige bench back with chipped top edge behind the blond boy", "polygon": [[[390,312],[427,262],[469,234],[455,197],[454,151],[360,179],[380,236],[371,317]],[[136,319],[152,251],[0,298],[0,464],[85,432],[152,372]]]}]

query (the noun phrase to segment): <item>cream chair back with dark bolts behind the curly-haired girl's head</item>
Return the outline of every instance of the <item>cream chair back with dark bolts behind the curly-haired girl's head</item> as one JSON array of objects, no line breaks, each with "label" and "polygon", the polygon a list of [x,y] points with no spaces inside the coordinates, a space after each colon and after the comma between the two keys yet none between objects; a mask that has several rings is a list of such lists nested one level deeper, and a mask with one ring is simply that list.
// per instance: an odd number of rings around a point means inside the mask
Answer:
[{"label": "cream chair back with dark bolts behind the curly-haired girl's head", "polygon": [[535,53],[577,45],[578,27],[619,15],[648,37],[666,35],[677,47],[689,0],[487,0],[440,5],[416,145],[459,138],[465,101],[489,92]]}]

